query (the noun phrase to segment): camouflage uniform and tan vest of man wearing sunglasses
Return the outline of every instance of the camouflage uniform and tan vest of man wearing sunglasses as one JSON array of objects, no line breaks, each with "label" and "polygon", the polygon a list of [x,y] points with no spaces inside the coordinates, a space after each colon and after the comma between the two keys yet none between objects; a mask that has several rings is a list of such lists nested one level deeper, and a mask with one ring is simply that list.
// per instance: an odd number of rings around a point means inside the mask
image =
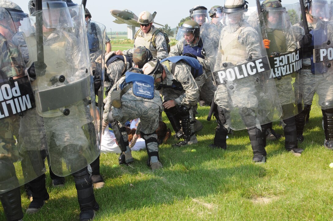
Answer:
[{"label": "camouflage uniform and tan vest of man wearing sunglasses", "polygon": [[[168,56],[167,52],[167,45],[166,45],[166,39],[164,35],[159,32],[155,37],[155,44],[156,48],[153,46],[153,43],[151,42],[154,32],[157,29],[154,25],[152,25],[151,30],[148,33],[143,33],[142,31],[139,31],[139,34],[137,38],[134,40],[134,48],[128,49],[123,51],[123,55],[132,56],[135,48],[139,46],[145,46],[147,49],[149,49],[152,52],[152,55],[158,59],[163,59]],[[147,39],[147,36],[150,36],[149,39]],[[139,42],[145,42],[139,43]]]}]

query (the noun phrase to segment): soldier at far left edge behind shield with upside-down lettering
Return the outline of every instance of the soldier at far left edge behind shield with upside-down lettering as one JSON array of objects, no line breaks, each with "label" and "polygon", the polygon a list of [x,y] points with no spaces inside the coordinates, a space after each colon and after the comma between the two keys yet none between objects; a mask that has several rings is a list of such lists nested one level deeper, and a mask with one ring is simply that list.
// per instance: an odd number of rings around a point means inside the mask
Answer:
[{"label": "soldier at far left edge behind shield with upside-down lettering", "polygon": [[[21,21],[28,15],[17,4],[1,1],[0,17],[0,84],[3,88],[0,92],[2,102],[0,108],[0,167],[2,171],[0,201],[7,220],[21,220],[23,213],[19,186],[31,180],[37,180],[37,182],[45,180],[43,161],[45,155],[41,156],[45,150],[40,147],[42,145],[34,149],[22,145],[25,137],[19,132],[20,121],[30,119],[31,113],[36,111],[32,87],[28,76],[25,75],[24,59],[19,48],[12,43],[12,38],[18,32]],[[38,123],[39,119],[34,120]],[[39,132],[43,133],[43,128]],[[46,191],[45,185],[44,188],[42,186],[43,190]],[[46,199],[49,197],[47,192],[45,197]]]}]

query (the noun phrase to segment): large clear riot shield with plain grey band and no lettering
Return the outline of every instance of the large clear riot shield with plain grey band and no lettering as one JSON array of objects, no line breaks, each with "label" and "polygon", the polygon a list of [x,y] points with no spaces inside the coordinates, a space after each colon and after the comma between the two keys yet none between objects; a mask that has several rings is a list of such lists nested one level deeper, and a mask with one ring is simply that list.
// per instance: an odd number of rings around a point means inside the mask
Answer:
[{"label": "large clear riot shield with plain grey band and no lettering", "polygon": [[[59,15],[75,15],[72,27]],[[66,176],[92,163],[100,153],[99,113],[96,108],[93,71],[88,48],[83,5],[47,9],[55,28],[45,27],[27,37],[29,56],[35,60],[36,79],[32,82],[36,106],[43,118],[50,164],[55,174]],[[34,13],[31,21],[44,10]],[[36,30],[36,29],[35,29]],[[37,38],[43,37],[43,47]],[[37,56],[37,50],[39,56]],[[42,52],[42,56],[41,56]],[[37,64],[37,66],[36,66]]]}]

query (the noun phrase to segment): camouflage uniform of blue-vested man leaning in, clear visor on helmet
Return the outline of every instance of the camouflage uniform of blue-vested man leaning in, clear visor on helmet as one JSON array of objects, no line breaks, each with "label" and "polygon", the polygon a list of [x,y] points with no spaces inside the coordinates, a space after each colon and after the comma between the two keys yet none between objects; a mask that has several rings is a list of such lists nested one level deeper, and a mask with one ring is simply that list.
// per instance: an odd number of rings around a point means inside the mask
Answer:
[{"label": "camouflage uniform of blue-vested man leaning in, clear visor on helmet", "polygon": [[[190,44],[190,46],[191,47],[197,46],[199,41],[200,37],[195,44]],[[178,41],[175,47],[173,47],[173,49],[170,51],[169,57],[182,55],[184,51],[184,44],[186,44],[184,38]],[[197,57],[197,59],[200,62],[200,64],[203,66],[205,74],[202,74],[201,76],[195,78],[195,82],[200,91],[200,98],[207,105],[209,105],[213,100],[214,93],[216,91],[216,86],[213,84],[212,81],[212,76],[208,61],[201,57]],[[196,104],[194,106],[196,106]]]}]

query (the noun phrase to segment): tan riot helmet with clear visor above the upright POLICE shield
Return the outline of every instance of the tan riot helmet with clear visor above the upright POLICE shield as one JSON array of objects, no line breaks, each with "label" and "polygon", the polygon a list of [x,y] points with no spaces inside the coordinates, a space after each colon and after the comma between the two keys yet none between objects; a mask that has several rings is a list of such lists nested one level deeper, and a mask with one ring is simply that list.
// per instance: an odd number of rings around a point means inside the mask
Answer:
[{"label": "tan riot helmet with clear visor above the upright POLICE shield", "polygon": [[223,16],[226,25],[238,25],[244,20],[244,13],[247,12],[247,1],[226,0],[223,7]]}]

